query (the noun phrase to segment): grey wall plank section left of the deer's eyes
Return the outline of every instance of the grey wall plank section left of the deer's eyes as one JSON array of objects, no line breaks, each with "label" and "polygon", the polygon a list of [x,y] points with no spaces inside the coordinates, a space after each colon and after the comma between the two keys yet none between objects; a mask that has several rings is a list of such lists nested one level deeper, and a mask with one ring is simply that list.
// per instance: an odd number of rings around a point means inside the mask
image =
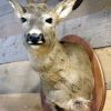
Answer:
[{"label": "grey wall plank section left of the deer's eyes", "polygon": [[22,29],[14,13],[0,17],[0,38],[20,33],[22,33]]}]

